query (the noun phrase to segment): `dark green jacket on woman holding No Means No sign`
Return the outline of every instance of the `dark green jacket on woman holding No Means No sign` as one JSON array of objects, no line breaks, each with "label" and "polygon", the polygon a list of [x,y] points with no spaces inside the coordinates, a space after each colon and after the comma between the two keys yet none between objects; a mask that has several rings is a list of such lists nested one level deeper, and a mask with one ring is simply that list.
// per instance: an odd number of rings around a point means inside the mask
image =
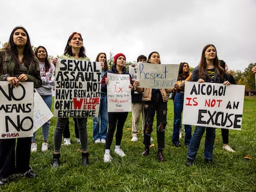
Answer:
[{"label": "dark green jacket on woman holding No Means No sign", "polygon": [[[5,56],[3,57],[3,50],[0,51],[0,81],[3,80],[5,74],[9,74],[11,77],[14,77],[14,67],[15,63],[12,61],[11,54],[5,51]],[[3,62],[2,62],[3,60]],[[42,85],[39,62],[36,57],[33,58],[33,65],[30,64],[30,67],[27,71],[27,81],[34,82],[34,88],[39,88]]]}]

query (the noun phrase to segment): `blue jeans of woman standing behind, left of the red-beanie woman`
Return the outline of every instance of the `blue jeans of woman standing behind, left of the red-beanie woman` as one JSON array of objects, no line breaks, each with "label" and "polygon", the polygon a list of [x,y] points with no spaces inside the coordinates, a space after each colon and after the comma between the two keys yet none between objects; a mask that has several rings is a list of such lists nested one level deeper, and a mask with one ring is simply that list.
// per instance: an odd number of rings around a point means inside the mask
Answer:
[{"label": "blue jeans of woman standing behind, left of the red-beanie woman", "polygon": [[93,140],[106,139],[108,129],[108,104],[106,94],[101,93],[98,117],[93,117]]}]

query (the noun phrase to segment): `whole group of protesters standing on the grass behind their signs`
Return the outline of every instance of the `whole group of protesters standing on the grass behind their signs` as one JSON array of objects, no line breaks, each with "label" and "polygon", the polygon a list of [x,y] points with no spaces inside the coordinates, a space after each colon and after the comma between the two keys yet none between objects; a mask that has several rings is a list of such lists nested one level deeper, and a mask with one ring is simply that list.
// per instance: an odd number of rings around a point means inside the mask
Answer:
[{"label": "whole group of protesters standing on the grass behind their signs", "polygon": [[[49,61],[48,52],[44,46],[38,46],[33,52],[28,32],[23,27],[15,27],[5,48],[0,51],[0,80],[8,81],[13,88],[19,86],[20,82],[32,81],[34,88],[38,91],[43,101],[51,109],[52,89],[54,88],[54,70],[58,58]],[[64,54],[60,59],[73,59],[80,61],[90,61],[85,54],[83,38],[80,33],[72,33],[66,43]],[[138,62],[149,64],[161,64],[160,54],[153,51],[146,56],[140,55]],[[116,143],[114,152],[121,157],[126,156],[121,149],[122,130],[126,122],[128,112],[108,112],[107,93],[108,93],[108,73],[117,75],[128,75],[129,85],[127,88],[132,93],[132,142],[138,141],[139,120],[142,114],[143,122],[143,144],[145,146],[142,156],[150,154],[151,133],[153,131],[153,120],[156,114],[156,136],[158,143],[157,159],[159,162],[165,161],[163,149],[165,144],[165,129],[167,123],[167,108],[170,93],[174,96],[174,131],[173,144],[178,147],[179,131],[181,128],[182,104],[184,101],[184,82],[197,81],[198,83],[222,83],[230,85],[231,79],[226,75],[225,70],[220,64],[213,44],[208,44],[203,48],[200,62],[193,72],[189,72],[189,64],[182,62],[179,66],[178,81],[174,88],[142,88],[140,81],[132,79],[129,70],[126,68],[126,56],[123,53],[114,56],[114,65],[108,69],[106,54],[100,52],[96,57],[96,62],[101,64],[101,90],[100,108],[97,117],[93,117],[93,140],[95,143],[105,144],[105,154],[103,161],[111,162],[111,144],[116,131]],[[252,69],[256,73],[256,67]],[[53,168],[58,169],[61,157],[61,143],[64,129],[69,122],[69,117],[58,117],[54,130],[54,152]],[[77,142],[80,143],[82,152],[82,165],[89,165],[88,161],[88,135],[87,117],[74,118],[75,128],[77,129]],[[48,151],[49,144],[49,120],[42,126],[43,143],[41,151]],[[4,124],[4,123],[2,123]],[[194,163],[202,135],[206,130],[205,149],[203,157],[205,162],[213,163],[213,145],[215,140],[215,128],[195,126],[194,134],[191,134],[191,125],[185,125],[185,145],[188,148],[186,165]],[[36,132],[33,137],[0,139],[0,185],[5,185],[15,177],[36,177],[30,167],[30,153],[36,151],[35,143]]]}]

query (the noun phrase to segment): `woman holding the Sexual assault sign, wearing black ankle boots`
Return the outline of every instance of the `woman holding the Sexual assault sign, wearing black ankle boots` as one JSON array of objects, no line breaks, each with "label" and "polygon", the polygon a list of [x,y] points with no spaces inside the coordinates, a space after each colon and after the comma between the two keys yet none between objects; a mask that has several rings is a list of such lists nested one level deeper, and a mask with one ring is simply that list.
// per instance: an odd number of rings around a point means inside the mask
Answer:
[{"label": "woman holding the Sexual assault sign, wearing black ankle boots", "polygon": [[[66,48],[64,55],[60,57],[61,59],[75,59],[90,61],[90,59],[85,55],[85,48],[83,47],[83,38],[80,33],[74,32],[69,36],[67,40]],[[87,143],[87,117],[74,118],[77,121],[77,126],[79,128],[80,143],[82,147],[82,164],[88,165],[88,143]],[[53,167],[59,167],[59,157],[62,141],[62,133],[66,126],[66,123],[69,121],[68,117],[61,118],[58,117],[57,125],[54,131],[54,154],[53,154]]]}]

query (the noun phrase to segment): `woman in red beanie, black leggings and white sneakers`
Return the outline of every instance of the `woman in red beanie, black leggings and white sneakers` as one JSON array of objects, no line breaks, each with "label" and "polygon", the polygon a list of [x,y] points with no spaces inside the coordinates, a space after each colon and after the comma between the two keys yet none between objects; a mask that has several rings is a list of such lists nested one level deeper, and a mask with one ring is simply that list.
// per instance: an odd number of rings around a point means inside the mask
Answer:
[{"label": "woman in red beanie, black leggings and white sneakers", "polygon": [[[126,69],[126,56],[122,53],[116,54],[114,56],[114,65],[111,70],[108,70],[101,80],[101,91],[107,93],[107,84],[109,82],[107,75],[108,73],[116,73],[116,74],[129,74]],[[130,76],[130,74],[129,74]],[[130,85],[129,88],[133,88],[133,81],[130,76]],[[108,133],[106,135],[106,148],[104,154],[104,162],[111,162],[110,155],[110,146],[113,141],[114,131],[116,130],[116,146],[114,152],[124,157],[124,151],[120,148],[121,140],[122,140],[122,128],[124,127],[124,122],[126,122],[128,112],[108,112]]]}]

